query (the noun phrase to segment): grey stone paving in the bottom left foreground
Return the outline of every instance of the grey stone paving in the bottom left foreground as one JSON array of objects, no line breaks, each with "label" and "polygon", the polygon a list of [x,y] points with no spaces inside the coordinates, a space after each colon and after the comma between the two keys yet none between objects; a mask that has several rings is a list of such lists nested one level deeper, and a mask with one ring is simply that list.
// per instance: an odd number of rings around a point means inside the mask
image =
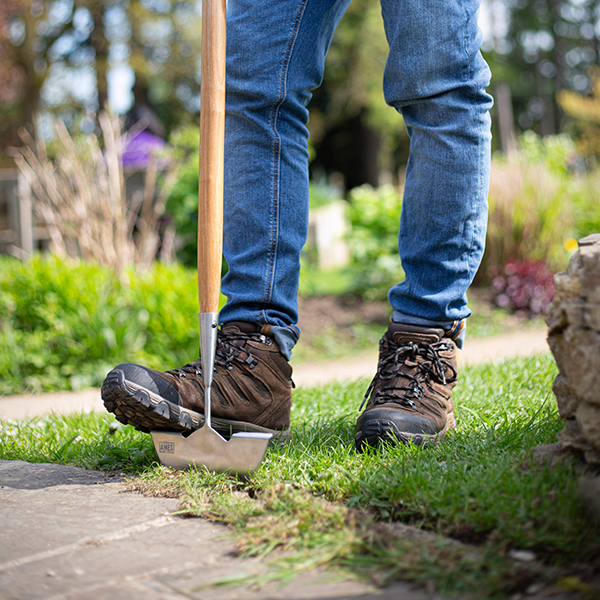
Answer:
[{"label": "grey stone paving in the bottom left foreground", "polygon": [[403,583],[380,590],[324,572],[283,588],[202,587],[268,566],[236,557],[226,526],[173,515],[177,507],[105,473],[0,461],[0,598],[442,600]]}]

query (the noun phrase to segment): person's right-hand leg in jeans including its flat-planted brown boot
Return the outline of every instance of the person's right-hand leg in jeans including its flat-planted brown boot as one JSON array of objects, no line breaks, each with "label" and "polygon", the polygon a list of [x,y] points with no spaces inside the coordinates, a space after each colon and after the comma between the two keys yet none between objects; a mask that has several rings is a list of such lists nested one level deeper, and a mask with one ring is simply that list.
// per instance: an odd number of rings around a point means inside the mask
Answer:
[{"label": "person's right-hand leg in jeans including its flat-planted brown boot", "polygon": [[[382,0],[390,54],[384,92],[410,135],[399,252],[406,279],[389,292],[356,444],[421,444],[455,426],[456,348],[466,291],[483,255],[490,168],[490,72],[479,0]],[[452,338],[452,339],[451,339]]]}]

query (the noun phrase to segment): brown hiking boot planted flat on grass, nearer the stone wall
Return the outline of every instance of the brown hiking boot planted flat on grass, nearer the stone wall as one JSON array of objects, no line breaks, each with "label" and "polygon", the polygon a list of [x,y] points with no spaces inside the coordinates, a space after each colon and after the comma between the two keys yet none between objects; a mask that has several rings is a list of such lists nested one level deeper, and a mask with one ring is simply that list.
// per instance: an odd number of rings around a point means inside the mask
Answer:
[{"label": "brown hiking boot planted flat on grass, nearer the stone wall", "polygon": [[382,441],[420,446],[456,427],[456,347],[444,330],[390,323],[379,346],[377,374],[356,423],[357,450]]}]

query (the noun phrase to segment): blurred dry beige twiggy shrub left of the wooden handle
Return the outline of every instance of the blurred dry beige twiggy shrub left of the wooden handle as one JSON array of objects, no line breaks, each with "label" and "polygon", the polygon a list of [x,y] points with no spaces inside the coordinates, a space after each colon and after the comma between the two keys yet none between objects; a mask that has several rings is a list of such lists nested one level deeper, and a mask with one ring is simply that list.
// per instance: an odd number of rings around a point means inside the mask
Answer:
[{"label": "blurred dry beige twiggy shrub left of the wooden handle", "polygon": [[[151,156],[144,171],[144,191],[128,198],[121,123],[104,111],[98,122],[101,135],[72,136],[60,119],[52,117],[50,147],[40,131],[34,139],[23,130],[24,145],[15,162],[30,187],[37,220],[48,230],[51,252],[94,260],[118,272],[131,263],[147,268],[161,246],[161,218],[175,181],[174,165]],[[163,236],[165,259],[172,235],[168,228]]]}]

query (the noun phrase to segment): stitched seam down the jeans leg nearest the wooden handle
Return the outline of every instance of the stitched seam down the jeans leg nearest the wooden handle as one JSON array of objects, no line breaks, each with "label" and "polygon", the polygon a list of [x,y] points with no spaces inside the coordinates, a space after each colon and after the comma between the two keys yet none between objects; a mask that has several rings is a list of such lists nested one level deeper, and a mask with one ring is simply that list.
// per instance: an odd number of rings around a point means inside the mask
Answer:
[{"label": "stitched seam down the jeans leg nearest the wooden handle", "polygon": [[[267,273],[267,282],[265,286],[265,298],[264,303],[265,307],[269,302],[272,293],[273,293],[273,284],[275,279],[275,269],[277,264],[277,232],[279,229],[279,183],[280,183],[280,163],[281,163],[281,138],[277,131],[277,119],[279,117],[279,111],[281,106],[285,102],[286,99],[286,80],[289,69],[289,64],[292,56],[292,52],[294,49],[294,45],[298,38],[298,30],[300,29],[300,23],[302,21],[302,17],[304,15],[304,10],[308,0],[302,0],[300,4],[300,8],[298,13],[296,14],[296,19],[294,21],[294,27],[292,29],[292,35],[290,41],[288,43],[288,47],[284,56],[282,70],[281,70],[281,79],[280,79],[280,98],[275,107],[273,108],[273,113],[271,116],[271,128],[273,131],[274,137],[274,152],[273,152],[273,188],[272,188],[272,199],[273,199],[273,220],[272,220],[272,228],[271,228],[271,248],[269,252],[269,264],[268,264],[268,273]],[[262,316],[264,321],[267,320],[266,312],[263,308]]]}]

